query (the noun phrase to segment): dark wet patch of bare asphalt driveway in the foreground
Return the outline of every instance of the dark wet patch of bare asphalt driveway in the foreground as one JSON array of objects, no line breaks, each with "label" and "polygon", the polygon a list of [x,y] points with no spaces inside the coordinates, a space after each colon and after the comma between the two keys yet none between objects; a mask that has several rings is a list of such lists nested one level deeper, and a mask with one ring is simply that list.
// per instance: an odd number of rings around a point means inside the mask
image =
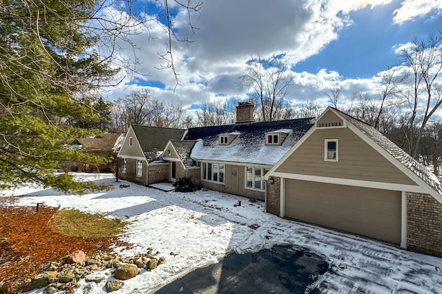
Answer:
[{"label": "dark wet patch of bare asphalt driveway in the foreground", "polygon": [[155,293],[320,293],[319,275],[329,268],[320,256],[289,245],[227,255]]}]

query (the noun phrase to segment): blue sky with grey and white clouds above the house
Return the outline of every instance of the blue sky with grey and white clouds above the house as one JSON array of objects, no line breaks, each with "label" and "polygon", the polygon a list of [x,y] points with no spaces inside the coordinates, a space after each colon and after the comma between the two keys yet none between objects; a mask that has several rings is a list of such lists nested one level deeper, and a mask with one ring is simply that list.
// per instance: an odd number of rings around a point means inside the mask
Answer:
[{"label": "blue sky with grey and white clouds above the house", "polygon": [[[160,2],[137,0],[134,7],[155,14]],[[148,22],[133,36],[140,74],[126,76],[105,96],[124,98],[149,87],[156,98],[189,109],[231,97],[242,100],[238,77],[251,56],[280,55],[295,81],[286,98],[327,106],[329,89],[340,87],[343,98],[373,89],[378,74],[400,61],[399,46],[442,30],[441,0],[206,0],[190,15],[195,34],[189,16],[173,12],[177,35],[191,41],[173,43],[181,86],[175,88],[171,70],[157,70],[167,35],[162,25]],[[128,46],[122,50],[129,59],[132,52]]]}]

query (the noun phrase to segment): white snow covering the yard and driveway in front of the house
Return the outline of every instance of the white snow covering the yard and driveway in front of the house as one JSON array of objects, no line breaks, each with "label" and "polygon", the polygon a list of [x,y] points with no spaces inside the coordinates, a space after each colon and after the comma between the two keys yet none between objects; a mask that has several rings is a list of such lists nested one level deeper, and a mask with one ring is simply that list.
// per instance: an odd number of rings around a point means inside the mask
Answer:
[{"label": "white snow covering the yard and driveway in front of the house", "polygon": [[[91,174],[78,174],[92,178]],[[440,293],[442,259],[397,249],[374,240],[278,218],[264,211],[263,202],[215,191],[195,193],[164,192],[101,174],[95,180],[108,182],[114,189],[84,196],[61,195],[52,189],[27,187],[0,191],[17,196],[18,205],[37,202],[90,213],[108,213],[130,222],[122,238],[135,246],[116,249],[126,256],[160,251],[166,263],[153,271],[124,281],[118,293],[150,293],[193,271],[218,262],[231,252],[245,253],[269,249],[275,244],[291,244],[311,251],[329,262],[331,271],[318,278],[324,293]],[[120,184],[130,187],[119,188]],[[24,196],[23,193],[26,193]],[[236,206],[241,201],[241,206]],[[177,253],[172,256],[170,253]],[[106,270],[94,275],[104,275]],[[113,277],[106,276],[107,280]],[[107,280],[81,280],[76,293],[106,293]],[[42,293],[43,289],[31,293]]]}]

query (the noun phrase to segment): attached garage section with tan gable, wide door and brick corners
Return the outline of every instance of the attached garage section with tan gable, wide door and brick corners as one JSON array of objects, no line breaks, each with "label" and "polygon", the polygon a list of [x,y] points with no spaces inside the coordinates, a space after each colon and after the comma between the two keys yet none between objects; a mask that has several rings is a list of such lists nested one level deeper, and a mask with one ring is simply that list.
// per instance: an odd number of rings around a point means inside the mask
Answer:
[{"label": "attached garage section with tan gable, wide door and brick corners", "polygon": [[265,174],[266,211],[442,255],[442,186],[373,127],[328,107]]}]

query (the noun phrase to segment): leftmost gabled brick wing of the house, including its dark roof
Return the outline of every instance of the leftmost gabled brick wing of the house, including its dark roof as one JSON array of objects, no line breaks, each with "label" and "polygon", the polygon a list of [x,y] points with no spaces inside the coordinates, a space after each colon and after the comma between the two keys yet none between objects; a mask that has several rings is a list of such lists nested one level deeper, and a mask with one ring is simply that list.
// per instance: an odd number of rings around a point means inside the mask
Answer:
[{"label": "leftmost gabled brick wing of the house, including its dark roof", "polygon": [[118,176],[150,185],[169,180],[169,162],[162,151],[169,140],[180,140],[184,129],[131,125],[118,152]]}]

